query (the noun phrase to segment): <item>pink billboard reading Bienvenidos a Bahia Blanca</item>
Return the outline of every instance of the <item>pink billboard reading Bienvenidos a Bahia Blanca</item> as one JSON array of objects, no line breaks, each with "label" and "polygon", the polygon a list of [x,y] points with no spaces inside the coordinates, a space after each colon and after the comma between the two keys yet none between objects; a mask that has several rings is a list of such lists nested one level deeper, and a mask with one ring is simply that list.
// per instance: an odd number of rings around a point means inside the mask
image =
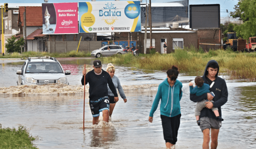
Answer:
[{"label": "pink billboard reading Bienvenidos a Bahia Blanca", "polygon": [[43,34],[78,34],[77,2],[42,3]]}]

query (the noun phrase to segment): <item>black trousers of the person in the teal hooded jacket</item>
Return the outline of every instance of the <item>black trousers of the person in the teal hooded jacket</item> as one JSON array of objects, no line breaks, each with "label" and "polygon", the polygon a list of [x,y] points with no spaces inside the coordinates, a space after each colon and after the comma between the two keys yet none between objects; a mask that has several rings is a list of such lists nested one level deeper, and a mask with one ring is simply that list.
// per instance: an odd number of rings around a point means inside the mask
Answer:
[{"label": "black trousers of the person in the teal hooded jacket", "polygon": [[175,117],[167,117],[165,115],[161,115],[163,138],[165,139],[165,143],[169,142],[171,144],[176,144],[178,130],[180,127],[180,117],[181,114]]}]

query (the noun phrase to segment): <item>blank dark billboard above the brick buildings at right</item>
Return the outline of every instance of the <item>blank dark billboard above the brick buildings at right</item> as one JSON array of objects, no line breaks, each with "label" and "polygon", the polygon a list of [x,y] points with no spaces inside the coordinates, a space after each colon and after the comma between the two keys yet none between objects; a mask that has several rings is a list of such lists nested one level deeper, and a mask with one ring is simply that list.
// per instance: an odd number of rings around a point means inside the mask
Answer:
[{"label": "blank dark billboard above the brick buildings at right", "polygon": [[189,17],[192,29],[220,28],[220,5],[189,5]]}]

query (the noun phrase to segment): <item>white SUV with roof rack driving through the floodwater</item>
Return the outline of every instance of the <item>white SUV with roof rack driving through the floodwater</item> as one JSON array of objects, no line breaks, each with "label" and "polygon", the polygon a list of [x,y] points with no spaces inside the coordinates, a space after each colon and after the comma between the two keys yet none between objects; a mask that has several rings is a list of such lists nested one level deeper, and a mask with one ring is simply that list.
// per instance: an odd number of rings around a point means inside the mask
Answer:
[{"label": "white SUV with roof rack driving through the floodwater", "polygon": [[19,75],[17,85],[69,84],[66,75],[71,74],[71,71],[64,72],[56,58],[28,58],[16,74]]}]

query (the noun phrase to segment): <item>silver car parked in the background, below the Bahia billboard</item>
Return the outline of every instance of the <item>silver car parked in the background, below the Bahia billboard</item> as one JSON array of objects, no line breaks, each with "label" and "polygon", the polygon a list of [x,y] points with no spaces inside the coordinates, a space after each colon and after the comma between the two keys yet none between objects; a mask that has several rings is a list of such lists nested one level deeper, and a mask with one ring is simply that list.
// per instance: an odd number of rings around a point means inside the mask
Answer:
[{"label": "silver car parked in the background, below the Bahia billboard", "polygon": [[[109,50],[108,50],[109,47]],[[105,45],[97,50],[93,50],[91,52],[91,56],[95,56],[96,58],[101,56],[111,56],[114,54],[125,54],[124,48],[120,45]]]}]

